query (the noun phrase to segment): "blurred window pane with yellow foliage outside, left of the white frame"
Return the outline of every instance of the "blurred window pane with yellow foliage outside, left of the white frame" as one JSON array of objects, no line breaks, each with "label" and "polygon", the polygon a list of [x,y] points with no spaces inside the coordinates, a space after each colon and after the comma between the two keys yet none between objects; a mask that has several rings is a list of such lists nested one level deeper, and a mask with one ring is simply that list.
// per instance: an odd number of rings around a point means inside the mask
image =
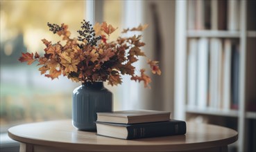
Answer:
[{"label": "blurred window pane with yellow foliage outside, left of the white frame", "polygon": [[46,25],[66,23],[71,37],[85,17],[85,1],[1,1],[1,132],[14,124],[71,117],[71,93],[79,84],[53,81],[36,65],[18,61],[22,52],[42,53],[40,39],[58,41]]}]

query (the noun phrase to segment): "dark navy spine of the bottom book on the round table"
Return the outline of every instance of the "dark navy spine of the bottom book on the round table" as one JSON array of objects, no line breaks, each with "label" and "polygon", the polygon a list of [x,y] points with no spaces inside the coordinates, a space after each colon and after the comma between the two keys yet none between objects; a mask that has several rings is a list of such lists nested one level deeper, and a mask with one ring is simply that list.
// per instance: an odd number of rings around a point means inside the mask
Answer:
[{"label": "dark navy spine of the bottom book on the round table", "polygon": [[127,140],[132,140],[146,137],[184,135],[187,128],[186,122],[161,122],[130,125],[127,130]]}]

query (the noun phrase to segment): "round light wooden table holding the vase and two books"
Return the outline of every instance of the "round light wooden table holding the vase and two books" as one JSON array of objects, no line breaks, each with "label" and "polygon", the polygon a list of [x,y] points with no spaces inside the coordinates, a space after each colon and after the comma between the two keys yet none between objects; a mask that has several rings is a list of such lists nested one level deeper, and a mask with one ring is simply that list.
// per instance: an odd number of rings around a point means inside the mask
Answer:
[{"label": "round light wooden table holding the vase and two books", "polygon": [[71,120],[13,126],[8,135],[21,143],[20,151],[228,151],[237,140],[232,129],[187,123],[185,135],[119,140],[78,131]]}]

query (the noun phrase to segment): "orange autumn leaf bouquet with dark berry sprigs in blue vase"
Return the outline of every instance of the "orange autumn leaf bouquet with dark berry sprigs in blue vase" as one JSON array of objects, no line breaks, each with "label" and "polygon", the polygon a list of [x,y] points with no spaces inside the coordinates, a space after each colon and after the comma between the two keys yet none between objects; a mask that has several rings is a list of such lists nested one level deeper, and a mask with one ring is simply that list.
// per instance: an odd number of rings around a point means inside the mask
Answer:
[{"label": "orange autumn leaf bouquet with dark berry sprigs in blue vase", "polygon": [[[132,80],[144,82],[149,87],[151,78],[145,74],[145,69],[140,70],[140,75],[135,75],[133,63],[138,61],[139,56],[146,57],[141,50],[144,42],[142,35],[133,37],[118,37],[115,41],[109,41],[110,34],[117,28],[108,23],[96,23],[92,26],[89,21],[83,20],[81,29],[78,30],[77,38],[70,38],[71,32],[64,23],[47,23],[53,34],[62,37],[65,45],[52,44],[51,41],[42,39],[46,46],[44,55],[22,53],[19,61],[27,61],[31,65],[37,61],[41,75],[58,78],[60,75],[67,76],[74,82],[106,82],[110,85],[121,84],[121,75],[130,75]],[[136,28],[127,28],[122,33],[130,31],[142,31],[147,25],[139,25]],[[153,74],[161,74],[158,61],[148,59]]]}]

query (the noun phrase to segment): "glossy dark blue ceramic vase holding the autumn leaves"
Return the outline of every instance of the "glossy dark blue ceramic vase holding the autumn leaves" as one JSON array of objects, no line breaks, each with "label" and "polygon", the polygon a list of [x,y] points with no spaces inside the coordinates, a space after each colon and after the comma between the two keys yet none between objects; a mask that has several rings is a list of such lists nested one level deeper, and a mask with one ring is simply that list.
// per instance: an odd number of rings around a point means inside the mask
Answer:
[{"label": "glossy dark blue ceramic vase holding the autumn leaves", "polygon": [[80,131],[96,131],[96,113],[112,111],[112,93],[103,82],[85,82],[73,91],[73,126]]}]

